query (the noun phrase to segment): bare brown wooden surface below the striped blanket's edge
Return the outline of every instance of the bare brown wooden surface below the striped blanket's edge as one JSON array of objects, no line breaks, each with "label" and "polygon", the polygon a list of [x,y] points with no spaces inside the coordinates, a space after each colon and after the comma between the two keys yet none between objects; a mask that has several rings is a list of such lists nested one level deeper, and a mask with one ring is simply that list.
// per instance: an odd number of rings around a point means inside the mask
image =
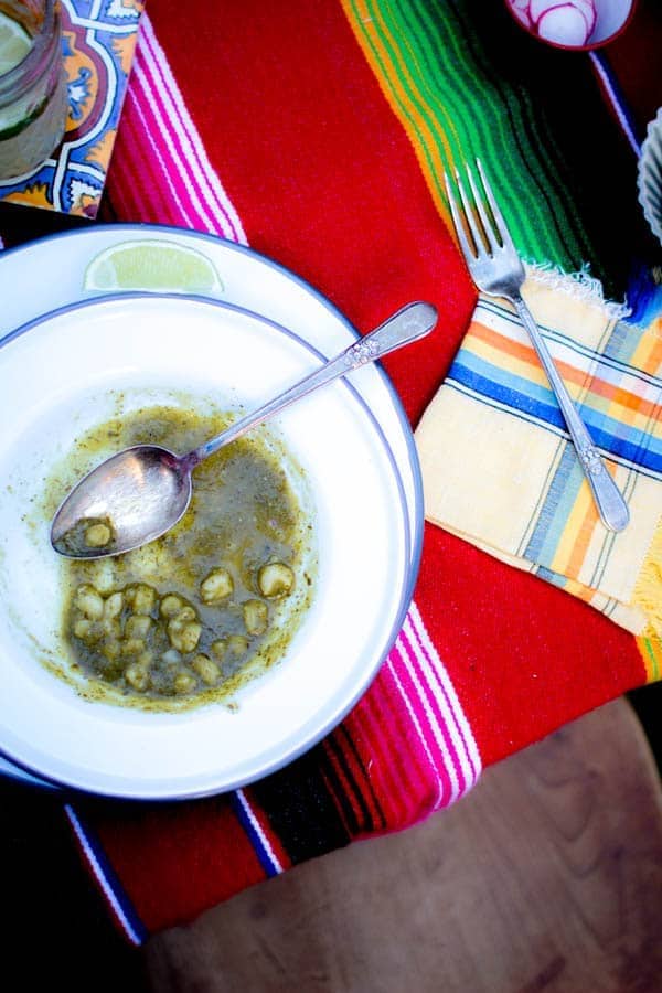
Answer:
[{"label": "bare brown wooden surface below the striped blanket's edge", "polygon": [[151,939],[156,993],[660,993],[662,791],[616,701],[455,808]]}]

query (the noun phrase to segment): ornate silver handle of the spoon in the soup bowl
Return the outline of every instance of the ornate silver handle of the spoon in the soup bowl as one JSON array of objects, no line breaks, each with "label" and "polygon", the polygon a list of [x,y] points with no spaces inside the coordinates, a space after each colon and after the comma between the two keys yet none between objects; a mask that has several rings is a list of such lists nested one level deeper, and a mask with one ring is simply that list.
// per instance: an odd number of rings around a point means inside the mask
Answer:
[{"label": "ornate silver handle of the spoon in the soup bowl", "polygon": [[280,396],[269,401],[268,404],[265,404],[264,407],[259,407],[252,414],[239,418],[239,420],[235,420],[234,424],[231,424],[215,438],[211,438],[204,445],[201,445],[200,448],[184,456],[184,461],[190,468],[193,468],[193,466],[206,459],[207,456],[217,451],[223,445],[241,438],[246,431],[257,427],[258,424],[267,420],[274,414],[284,410],[285,407],[293,404],[295,401],[300,399],[308,393],[312,393],[313,389],[318,389],[320,386],[324,386],[327,383],[331,383],[353,369],[359,369],[369,362],[375,362],[383,355],[388,354],[388,352],[399,349],[401,345],[409,344],[409,342],[423,338],[433,330],[436,323],[437,311],[431,303],[408,303],[374,331],[371,331],[370,334],[359,339],[344,352],[337,355],[335,359],[330,359],[320,369],[290,386],[285,393],[281,393]]}]

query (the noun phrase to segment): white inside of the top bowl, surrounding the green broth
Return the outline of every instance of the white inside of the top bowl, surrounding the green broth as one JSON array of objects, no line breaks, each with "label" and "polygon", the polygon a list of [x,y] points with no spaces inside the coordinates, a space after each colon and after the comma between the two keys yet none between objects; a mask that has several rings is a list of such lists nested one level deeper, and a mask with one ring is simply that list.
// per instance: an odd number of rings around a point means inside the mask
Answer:
[{"label": "white inside of the top bowl, surrounding the green broth", "polygon": [[[178,391],[200,409],[256,407],[319,365],[310,345],[246,311],[185,297],[102,298],[64,308],[0,349],[0,746],[61,784],[171,799],[265,776],[319,740],[372,681],[412,592],[399,472],[369,406],[345,380],[274,419],[314,501],[312,607],[282,661],[222,705],[149,714],[89,703],[40,661],[62,658],[62,576],[43,479],[75,437],[116,412]],[[28,513],[25,513],[28,509]],[[36,520],[36,526],[35,526]]]}]

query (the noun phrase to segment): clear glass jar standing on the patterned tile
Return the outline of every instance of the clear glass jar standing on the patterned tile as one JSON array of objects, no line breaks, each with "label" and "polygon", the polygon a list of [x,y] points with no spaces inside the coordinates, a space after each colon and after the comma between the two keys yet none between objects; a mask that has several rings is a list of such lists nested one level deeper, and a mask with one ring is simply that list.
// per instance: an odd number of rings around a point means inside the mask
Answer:
[{"label": "clear glass jar standing on the patterned tile", "polygon": [[[12,64],[17,53],[20,61]],[[58,0],[0,0],[0,180],[7,180],[41,166],[64,135]]]}]

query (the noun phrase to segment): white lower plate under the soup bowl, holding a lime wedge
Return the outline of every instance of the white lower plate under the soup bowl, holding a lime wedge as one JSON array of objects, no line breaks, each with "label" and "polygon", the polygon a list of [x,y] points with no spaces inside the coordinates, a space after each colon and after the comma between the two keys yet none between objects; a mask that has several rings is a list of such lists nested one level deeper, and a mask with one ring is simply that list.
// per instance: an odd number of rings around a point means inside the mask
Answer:
[{"label": "white lower plate under the soup bowl, holding a lime wedge", "polygon": [[[313,287],[249,248],[164,225],[96,224],[0,254],[0,279],[4,287],[0,339],[39,316],[88,298],[83,281],[90,259],[111,245],[143,238],[177,242],[202,252],[223,281],[220,299],[270,318],[324,355],[340,351],[357,337],[342,313]],[[413,588],[420,560],[424,514],[420,469],[410,427],[383,370],[366,366],[353,374],[352,383],[378,419],[399,470],[409,516]],[[1,756],[0,775],[35,782]],[[36,782],[51,786],[42,780]]]}]

